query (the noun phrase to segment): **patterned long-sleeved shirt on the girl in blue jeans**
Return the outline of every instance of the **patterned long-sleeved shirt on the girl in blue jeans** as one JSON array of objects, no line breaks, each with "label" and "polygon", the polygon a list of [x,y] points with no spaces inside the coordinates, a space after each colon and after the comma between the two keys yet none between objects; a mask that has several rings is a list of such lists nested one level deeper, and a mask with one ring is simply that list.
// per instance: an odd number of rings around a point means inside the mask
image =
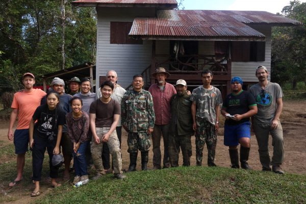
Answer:
[{"label": "patterned long-sleeved shirt on the girl in blue jeans", "polygon": [[89,129],[89,116],[86,112],[82,111],[80,118],[73,118],[72,112],[66,115],[66,123],[69,138],[71,142],[83,143],[89,140],[88,129]]}]

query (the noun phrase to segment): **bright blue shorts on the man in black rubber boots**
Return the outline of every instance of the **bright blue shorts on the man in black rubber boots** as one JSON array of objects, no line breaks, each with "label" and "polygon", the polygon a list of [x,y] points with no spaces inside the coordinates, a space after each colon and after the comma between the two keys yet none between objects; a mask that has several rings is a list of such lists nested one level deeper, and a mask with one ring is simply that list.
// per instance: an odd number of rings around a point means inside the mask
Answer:
[{"label": "bright blue shorts on the man in black rubber boots", "polygon": [[224,125],[224,145],[237,146],[239,139],[251,138],[250,122],[243,122],[237,125]]}]

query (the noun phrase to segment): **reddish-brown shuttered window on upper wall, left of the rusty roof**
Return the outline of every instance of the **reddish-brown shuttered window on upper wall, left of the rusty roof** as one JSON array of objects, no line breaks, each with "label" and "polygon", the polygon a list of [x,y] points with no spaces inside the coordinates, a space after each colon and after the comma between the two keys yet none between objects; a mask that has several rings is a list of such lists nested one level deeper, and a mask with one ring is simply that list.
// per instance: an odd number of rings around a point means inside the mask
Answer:
[{"label": "reddish-brown shuttered window on upper wall, left of the rusty roof", "polygon": [[142,44],[142,40],[129,38],[133,22],[111,22],[111,44]]}]

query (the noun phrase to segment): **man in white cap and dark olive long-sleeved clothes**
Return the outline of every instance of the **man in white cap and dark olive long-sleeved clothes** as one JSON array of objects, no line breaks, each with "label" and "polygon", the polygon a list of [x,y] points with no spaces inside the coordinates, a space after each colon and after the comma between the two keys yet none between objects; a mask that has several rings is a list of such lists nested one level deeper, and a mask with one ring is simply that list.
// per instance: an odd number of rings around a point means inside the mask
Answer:
[{"label": "man in white cap and dark olive long-sleeved clothes", "polygon": [[169,130],[169,160],[172,167],[179,166],[180,147],[183,155],[183,166],[190,166],[192,155],[192,129],[190,95],[187,94],[185,80],[175,83],[176,94],[171,98],[171,121]]}]

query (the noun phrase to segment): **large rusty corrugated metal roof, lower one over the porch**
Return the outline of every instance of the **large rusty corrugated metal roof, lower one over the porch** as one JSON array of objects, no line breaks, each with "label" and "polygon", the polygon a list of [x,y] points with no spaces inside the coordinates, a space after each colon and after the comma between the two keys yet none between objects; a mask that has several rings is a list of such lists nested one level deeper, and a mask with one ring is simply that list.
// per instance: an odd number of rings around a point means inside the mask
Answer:
[{"label": "large rusty corrugated metal roof, lower one over the porch", "polygon": [[264,40],[247,24],[298,25],[265,11],[158,10],[157,17],[135,18],[130,36],[142,39]]}]

